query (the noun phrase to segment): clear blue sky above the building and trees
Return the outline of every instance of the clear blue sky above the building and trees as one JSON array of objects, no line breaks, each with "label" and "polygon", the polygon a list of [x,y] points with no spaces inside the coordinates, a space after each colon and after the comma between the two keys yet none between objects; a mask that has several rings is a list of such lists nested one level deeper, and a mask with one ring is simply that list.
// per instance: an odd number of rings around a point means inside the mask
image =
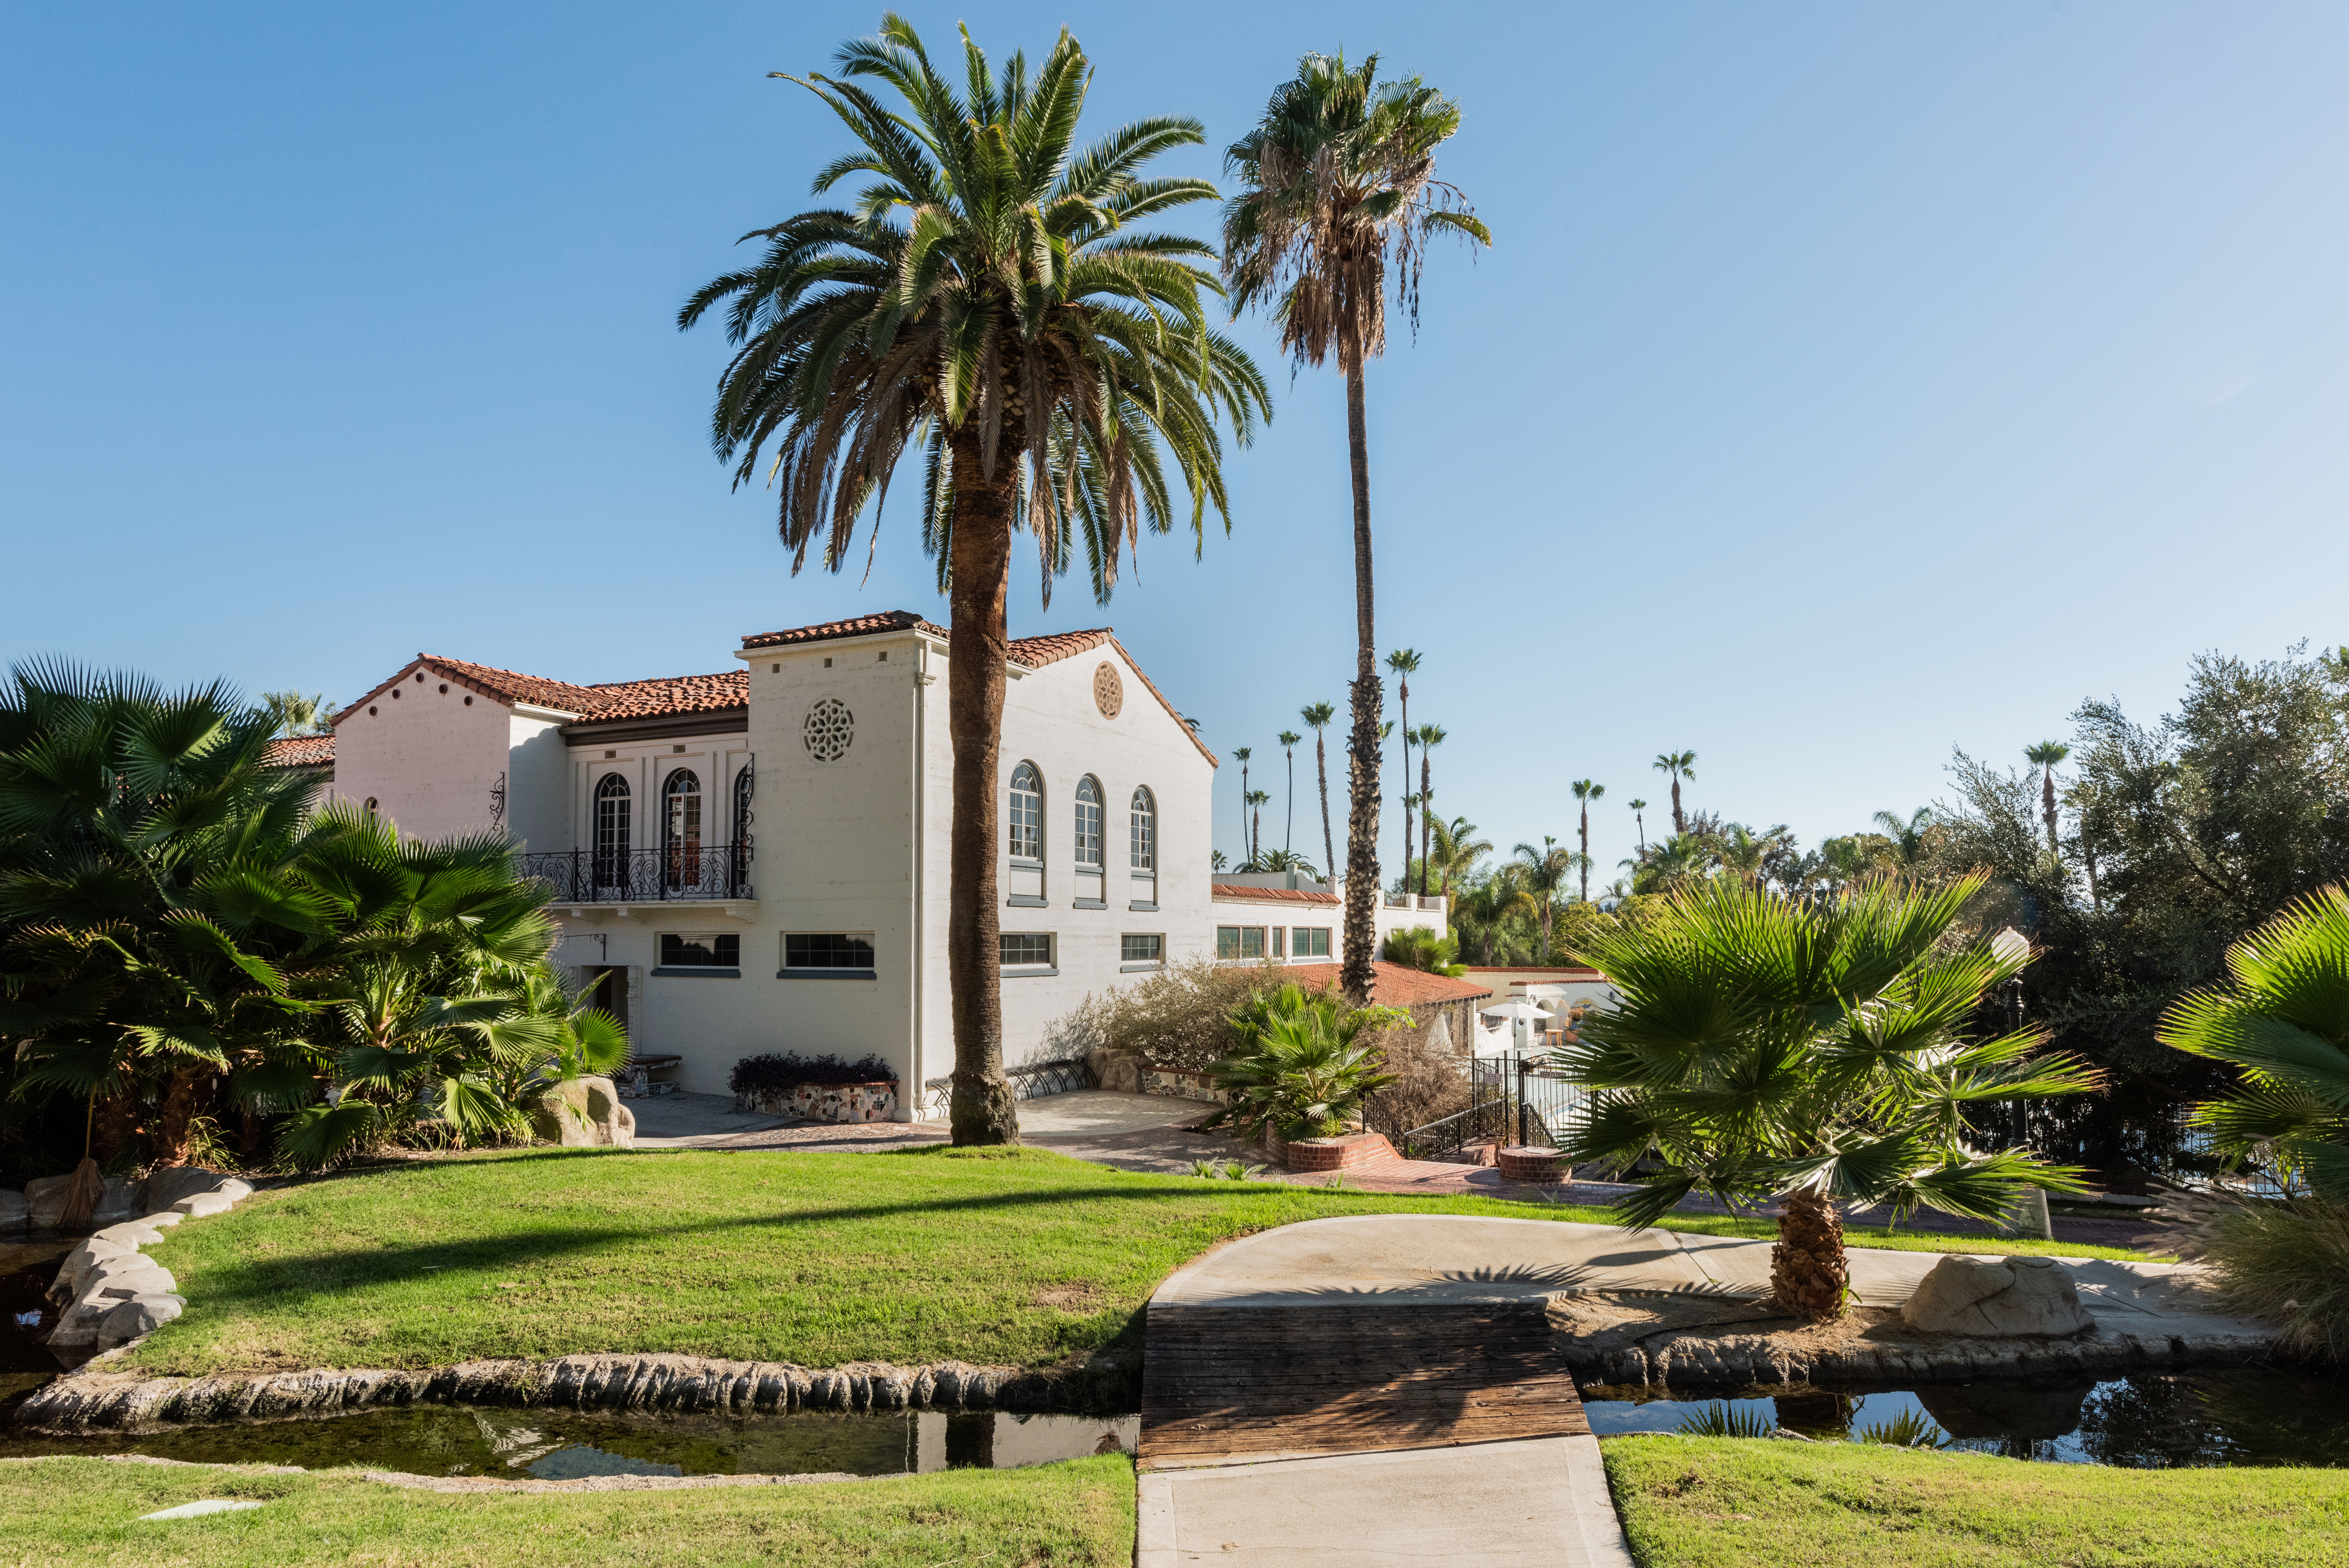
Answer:
[{"label": "clear blue sky above the building and trees", "polygon": [[[1665,748],[1809,844],[2084,696],[2149,719],[2199,649],[2349,639],[2337,5],[909,14],[998,54],[1066,21],[1090,127],[1198,115],[1210,176],[1308,47],[1461,99],[1442,172],[1496,244],[1372,369],[1379,637],[1503,849],[1588,776],[1611,865]],[[0,654],[348,701],[418,649],[597,682],[942,614],[904,512],[869,583],[789,576],[705,442],[723,343],[672,327],[843,146],[766,73],[876,19],[0,12]],[[1353,597],[1337,376],[1245,334],[1280,397],[1231,538],[1149,541],[1106,611],[1041,611],[1024,557],[1012,630],[1116,623],[1261,778],[1344,710]],[[1229,851],[1236,769],[1217,799]],[[1318,858],[1311,818],[1306,773]]]}]

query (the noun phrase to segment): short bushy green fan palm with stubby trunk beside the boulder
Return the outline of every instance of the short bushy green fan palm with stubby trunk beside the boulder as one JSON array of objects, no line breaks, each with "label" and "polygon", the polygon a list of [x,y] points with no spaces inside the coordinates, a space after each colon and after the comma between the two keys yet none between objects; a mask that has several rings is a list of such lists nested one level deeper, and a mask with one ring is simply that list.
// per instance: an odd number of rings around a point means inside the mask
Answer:
[{"label": "short bushy green fan palm with stubby trunk beside the boulder", "polygon": [[1877,884],[1799,903],[1724,877],[1640,926],[1593,931],[1583,959],[1621,1001],[1553,1058],[1593,1088],[1567,1159],[1642,1164],[1616,1206],[1628,1227],[1691,1192],[1783,1199],[1771,1284],[1806,1319],[1844,1309],[1837,1204],[1997,1220],[2025,1187],[2079,1192],[2079,1171],[1973,1143],[1973,1117],[2001,1100],[2098,1084],[2072,1058],[2034,1058],[2037,1030],[1966,1034],[2030,961],[1990,938],[1943,947],[1980,886]]}]

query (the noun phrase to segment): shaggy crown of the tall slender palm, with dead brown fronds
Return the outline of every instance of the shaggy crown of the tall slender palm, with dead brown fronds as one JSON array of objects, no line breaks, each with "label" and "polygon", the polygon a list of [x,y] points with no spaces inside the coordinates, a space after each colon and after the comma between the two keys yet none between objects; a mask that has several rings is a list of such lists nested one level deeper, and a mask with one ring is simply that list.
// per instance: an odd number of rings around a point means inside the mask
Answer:
[{"label": "shaggy crown of the tall slender palm, with dead brown fronds", "polygon": [[1492,244],[1468,200],[1435,179],[1459,103],[1416,75],[1377,78],[1377,54],[1360,68],[1306,54],[1224,153],[1245,188],[1224,207],[1231,308],[1271,303],[1280,348],[1299,364],[1384,353],[1388,263],[1416,324],[1419,268],[1438,230]]}]

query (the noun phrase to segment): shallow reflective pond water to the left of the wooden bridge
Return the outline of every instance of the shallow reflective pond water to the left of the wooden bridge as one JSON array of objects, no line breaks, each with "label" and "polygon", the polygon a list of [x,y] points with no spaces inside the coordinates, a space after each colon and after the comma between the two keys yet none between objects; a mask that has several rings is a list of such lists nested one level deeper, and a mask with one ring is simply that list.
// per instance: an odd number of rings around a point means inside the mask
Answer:
[{"label": "shallow reflective pond water to the left of the wooden bridge", "polygon": [[164,1460],[366,1465],[425,1476],[890,1476],[1012,1469],[1088,1453],[1132,1453],[1137,1415],[627,1415],[418,1406],[331,1420],[190,1427],[150,1436],[59,1439],[0,1429],[0,1455],[146,1453]]}]

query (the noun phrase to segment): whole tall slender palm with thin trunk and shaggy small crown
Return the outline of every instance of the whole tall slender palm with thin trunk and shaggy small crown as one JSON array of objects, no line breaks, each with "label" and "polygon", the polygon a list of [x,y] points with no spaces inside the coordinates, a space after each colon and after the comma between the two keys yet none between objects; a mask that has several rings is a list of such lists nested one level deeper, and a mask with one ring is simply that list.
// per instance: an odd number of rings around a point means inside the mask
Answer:
[{"label": "whole tall slender palm with thin trunk and shaggy small crown", "polygon": [[1435,233],[1485,244],[1459,190],[1435,179],[1435,148],[1461,122],[1456,103],[1419,78],[1379,82],[1379,56],[1306,54],[1273,89],[1264,118],[1224,153],[1240,190],[1224,209],[1224,275],[1233,315],[1264,306],[1280,348],[1301,364],[1337,355],[1346,376],[1346,461],[1353,475],[1353,618],[1346,809],[1346,954],[1339,983],[1369,1001],[1379,896],[1379,665],[1369,564],[1369,428],[1365,369],[1386,350],[1386,287],[1416,320],[1419,273]]}]

